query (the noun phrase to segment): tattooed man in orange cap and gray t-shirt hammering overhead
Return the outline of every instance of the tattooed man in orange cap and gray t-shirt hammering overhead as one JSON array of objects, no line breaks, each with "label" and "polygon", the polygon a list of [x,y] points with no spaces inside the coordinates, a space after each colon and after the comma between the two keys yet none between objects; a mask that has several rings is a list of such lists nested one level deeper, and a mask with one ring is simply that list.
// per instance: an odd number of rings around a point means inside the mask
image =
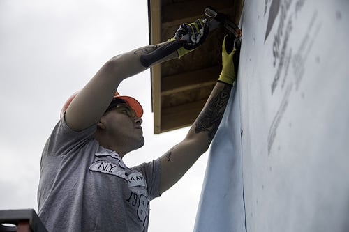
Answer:
[{"label": "tattooed man in orange cap and gray t-shirt hammering overhead", "polygon": [[186,173],[216,133],[236,75],[233,38],[225,36],[221,75],[186,138],[152,162],[128,168],[122,161],[144,144],[143,111],[137,100],[115,92],[147,69],[142,55],[189,36],[154,63],[179,58],[204,42],[208,27],[202,20],[182,24],[168,42],[113,57],[66,102],[41,160],[38,213],[49,231],[147,231],[149,201]]}]

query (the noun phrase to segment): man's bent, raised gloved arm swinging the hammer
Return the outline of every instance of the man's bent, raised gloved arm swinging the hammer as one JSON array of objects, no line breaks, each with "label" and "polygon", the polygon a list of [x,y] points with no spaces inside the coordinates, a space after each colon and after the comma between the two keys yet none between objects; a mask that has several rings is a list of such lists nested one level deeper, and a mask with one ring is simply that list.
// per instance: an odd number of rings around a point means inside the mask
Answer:
[{"label": "man's bent, raised gloved arm swinging the hammer", "polygon": [[[190,52],[190,50],[198,47],[202,40],[205,40],[204,30],[201,30],[200,33],[198,30],[194,30],[193,28],[198,28],[198,24],[200,23],[201,28],[205,28],[205,37],[208,33],[208,25],[204,24],[202,26],[202,20],[197,20],[193,24],[182,24],[186,27],[179,27],[179,30],[176,32],[176,36],[183,36],[184,33],[195,33],[193,35],[200,42],[194,42],[184,50],[184,53]],[[189,25],[189,26],[188,26]],[[194,26],[193,26],[194,25]],[[201,34],[202,33],[202,34]],[[141,56],[145,54],[150,54],[154,52],[156,49],[159,49],[165,45],[168,45],[172,41],[163,42],[158,45],[149,45],[145,47],[140,47],[139,49],[135,49],[131,52],[126,52],[124,54],[120,54],[118,56],[114,56],[112,59],[107,61],[100,70],[92,77],[92,79],[82,88],[82,90],[76,95],[73,101],[68,106],[66,110],[65,118],[66,123],[70,127],[70,129],[75,131],[81,131],[98,123],[101,116],[103,116],[105,109],[107,109],[110,101],[112,100],[114,93],[117,91],[117,87],[119,84],[126,78],[131,77],[133,75],[138,74],[146,70],[147,66],[142,65]],[[187,45],[184,45],[186,47]],[[168,61],[170,59],[176,59],[181,56],[183,52],[179,50],[174,51],[170,54],[163,55],[163,57],[159,57],[154,63],[151,65],[155,65],[156,63],[161,63],[164,61]]]}]

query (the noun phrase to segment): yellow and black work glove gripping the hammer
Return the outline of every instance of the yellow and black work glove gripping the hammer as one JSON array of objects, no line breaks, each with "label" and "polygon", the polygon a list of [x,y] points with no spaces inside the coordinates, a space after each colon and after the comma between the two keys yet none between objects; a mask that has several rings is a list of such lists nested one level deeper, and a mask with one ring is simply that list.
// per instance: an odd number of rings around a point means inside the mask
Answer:
[{"label": "yellow and black work glove gripping the hammer", "polygon": [[181,56],[184,56],[202,45],[208,34],[209,23],[207,20],[198,19],[191,24],[181,24],[174,34],[174,37],[168,41],[184,40],[184,38],[186,38],[186,43],[183,47],[177,49],[178,57],[181,58]]}]

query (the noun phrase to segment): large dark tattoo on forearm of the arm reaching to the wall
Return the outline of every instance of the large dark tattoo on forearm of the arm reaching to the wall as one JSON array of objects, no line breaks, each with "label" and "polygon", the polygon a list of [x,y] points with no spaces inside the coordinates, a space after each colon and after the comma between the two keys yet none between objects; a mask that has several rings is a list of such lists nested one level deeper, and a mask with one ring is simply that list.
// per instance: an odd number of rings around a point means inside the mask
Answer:
[{"label": "large dark tattoo on forearm of the arm reaching to the wall", "polygon": [[200,113],[195,121],[195,133],[209,132],[208,136],[213,139],[218,130],[219,123],[223,118],[225,107],[230,96],[231,86],[224,85],[222,91],[211,98],[205,110]]}]

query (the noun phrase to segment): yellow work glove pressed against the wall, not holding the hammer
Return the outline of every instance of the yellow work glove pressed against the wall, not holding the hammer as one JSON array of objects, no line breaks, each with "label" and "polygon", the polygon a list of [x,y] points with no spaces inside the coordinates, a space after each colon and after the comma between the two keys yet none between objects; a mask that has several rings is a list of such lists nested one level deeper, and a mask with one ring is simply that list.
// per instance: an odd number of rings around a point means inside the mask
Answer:
[{"label": "yellow work glove pressed against the wall, not holding the hammer", "polygon": [[222,45],[222,72],[218,81],[233,84],[237,76],[240,57],[240,40],[232,33],[224,36]]}]

